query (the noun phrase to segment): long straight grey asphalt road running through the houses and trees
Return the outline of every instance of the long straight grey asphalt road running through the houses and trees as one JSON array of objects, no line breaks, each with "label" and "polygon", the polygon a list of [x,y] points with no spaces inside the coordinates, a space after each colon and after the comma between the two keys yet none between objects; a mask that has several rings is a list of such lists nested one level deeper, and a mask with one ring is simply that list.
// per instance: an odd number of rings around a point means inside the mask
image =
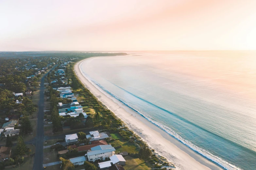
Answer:
[{"label": "long straight grey asphalt road running through the houses and trees", "polygon": [[[53,70],[57,65],[55,65],[51,70]],[[48,74],[48,73],[47,73]],[[44,108],[44,78],[47,74],[43,76],[40,84],[40,100],[39,100],[39,111],[37,115],[37,132],[34,138],[36,144],[36,154],[34,158],[33,170],[43,170],[43,108]]]}]

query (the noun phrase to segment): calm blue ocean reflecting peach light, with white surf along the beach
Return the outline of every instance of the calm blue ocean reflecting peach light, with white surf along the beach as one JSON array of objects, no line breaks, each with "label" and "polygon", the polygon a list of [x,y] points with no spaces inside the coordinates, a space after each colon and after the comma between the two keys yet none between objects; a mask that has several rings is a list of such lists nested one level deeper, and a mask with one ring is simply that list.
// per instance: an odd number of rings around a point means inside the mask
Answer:
[{"label": "calm blue ocean reflecting peach light, with white surf along the beach", "polygon": [[255,51],[128,51],[87,78],[224,169],[256,169]]}]

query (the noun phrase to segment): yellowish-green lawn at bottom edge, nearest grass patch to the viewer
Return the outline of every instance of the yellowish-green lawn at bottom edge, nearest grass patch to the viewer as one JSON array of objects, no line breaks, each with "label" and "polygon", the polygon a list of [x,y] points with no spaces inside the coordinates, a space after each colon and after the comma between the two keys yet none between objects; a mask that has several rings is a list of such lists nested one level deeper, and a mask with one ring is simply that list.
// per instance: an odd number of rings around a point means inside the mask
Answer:
[{"label": "yellowish-green lawn at bottom edge, nearest grass patch to the viewer", "polygon": [[130,156],[125,157],[125,170],[149,170],[151,169],[151,165],[146,163],[144,160],[140,160],[139,158],[132,158]]}]

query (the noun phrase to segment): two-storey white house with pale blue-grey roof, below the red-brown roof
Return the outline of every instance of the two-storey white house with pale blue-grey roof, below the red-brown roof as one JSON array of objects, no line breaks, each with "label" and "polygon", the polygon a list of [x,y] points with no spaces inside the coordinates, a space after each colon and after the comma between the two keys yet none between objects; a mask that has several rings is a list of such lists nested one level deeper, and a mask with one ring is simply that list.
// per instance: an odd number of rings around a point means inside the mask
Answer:
[{"label": "two-storey white house with pale blue-grey roof, below the red-brown roof", "polygon": [[95,161],[98,159],[105,160],[115,154],[115,148],[111,145],[99,145],[91,148],[92,151],[87,152],[89,161]]}]

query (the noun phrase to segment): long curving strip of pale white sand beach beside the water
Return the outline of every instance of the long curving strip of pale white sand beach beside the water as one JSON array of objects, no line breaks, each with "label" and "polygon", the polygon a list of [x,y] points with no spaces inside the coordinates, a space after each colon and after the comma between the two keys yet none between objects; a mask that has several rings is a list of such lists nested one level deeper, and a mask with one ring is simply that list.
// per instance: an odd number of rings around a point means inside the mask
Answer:
[{"label": "long curving strip of pale white sand beach beside the water", "polygon": [[155,149],[157,153],[174,163],[176,169],[179,170],[222,169],[183,145],[177,139],[173,138],[85,78],[81,73],[79,65],[81,62],[86,62],[86,60],[90,59],[92,58],[82,60],[75,65],[75,72],[78,78],[104,105],[122,119],[133,132],[139,135],[149,147]]}]

